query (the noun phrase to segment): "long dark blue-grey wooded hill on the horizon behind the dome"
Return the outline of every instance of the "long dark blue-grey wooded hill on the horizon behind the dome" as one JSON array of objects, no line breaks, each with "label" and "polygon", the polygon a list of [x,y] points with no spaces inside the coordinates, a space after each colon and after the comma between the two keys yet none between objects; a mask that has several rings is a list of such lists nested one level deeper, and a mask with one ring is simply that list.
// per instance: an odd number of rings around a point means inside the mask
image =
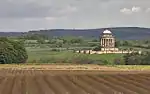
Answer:
[{"label": "long dark blue-grey wooded hill on the horizon behind the dome", "polygon": [[[25,34],[44,34],[48,36],[83,36],[83,37],[96,37],[98,38],[100,34],[106,28],[100,29],[51,29],[51,30],[39,30],[39,31],[29,31],[27,33],[20,32],[0,32],[0,36],[21,36]],[[114,27],[107,28],[112,31],[112,33],[118,39],[134,39],[140,40],[145,38],[150,38],[150,28],[139,28],[139,27]]]}]

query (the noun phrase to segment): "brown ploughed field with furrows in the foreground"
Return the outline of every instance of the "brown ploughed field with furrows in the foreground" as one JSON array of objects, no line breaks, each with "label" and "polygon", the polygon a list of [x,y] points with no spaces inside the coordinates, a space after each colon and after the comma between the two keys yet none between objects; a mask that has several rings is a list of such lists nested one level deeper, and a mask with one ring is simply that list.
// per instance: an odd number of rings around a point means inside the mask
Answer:
[{"label": "brown ploughed field with furrows in the foreground", "polygon": [[150,94],[150,72],[1,69],[0,94]]}]

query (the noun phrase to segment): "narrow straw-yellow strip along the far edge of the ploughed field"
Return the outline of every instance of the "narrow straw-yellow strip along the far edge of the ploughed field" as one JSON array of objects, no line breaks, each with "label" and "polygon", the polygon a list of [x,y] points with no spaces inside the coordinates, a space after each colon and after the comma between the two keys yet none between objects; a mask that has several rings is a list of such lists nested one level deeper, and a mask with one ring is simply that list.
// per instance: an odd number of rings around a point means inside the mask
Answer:
[{"label": "narrow straw-yellow strip along the far edge of the ploughed field", "polygon": [[26,65],[26,64],[4,64],[0,65],[0,69],[13,69],[13,70],[90,70],[90,71],[150,71],[150,66],[141,65],[94,65],[94,64],[42,64],[42,65]]}]

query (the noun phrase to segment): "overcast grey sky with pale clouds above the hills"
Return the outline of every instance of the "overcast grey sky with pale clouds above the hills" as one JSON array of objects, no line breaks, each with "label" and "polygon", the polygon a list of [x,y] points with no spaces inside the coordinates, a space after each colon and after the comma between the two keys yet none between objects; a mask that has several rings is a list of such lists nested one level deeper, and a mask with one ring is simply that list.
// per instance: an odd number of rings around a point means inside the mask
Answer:
[{"label": "overcast grey sky with pale clouds above the hills", "polygon": [[150,0],[0,0],[0,31],[150,28]]}]

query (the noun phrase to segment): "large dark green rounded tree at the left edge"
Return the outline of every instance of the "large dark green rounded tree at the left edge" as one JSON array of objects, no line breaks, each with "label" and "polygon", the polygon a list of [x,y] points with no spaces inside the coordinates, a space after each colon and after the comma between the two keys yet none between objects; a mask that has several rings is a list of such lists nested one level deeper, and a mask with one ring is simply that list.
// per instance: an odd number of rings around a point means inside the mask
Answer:
[{"label": "large dark green rounded tree at the left edge", "polygon": [[28,58],[23,43],[0,38],[0,63],[25,63]]}]

